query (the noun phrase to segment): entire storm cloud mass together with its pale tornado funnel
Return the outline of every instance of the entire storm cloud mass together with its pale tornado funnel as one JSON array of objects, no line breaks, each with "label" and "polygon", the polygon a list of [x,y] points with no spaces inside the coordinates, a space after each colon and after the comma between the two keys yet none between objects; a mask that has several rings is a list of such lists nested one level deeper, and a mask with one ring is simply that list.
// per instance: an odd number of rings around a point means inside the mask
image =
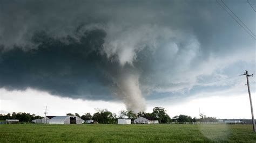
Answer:
[{"label": "entire storm cloud mass together with its pale tornado funnel", "polygon": [[[253,30],[250,5],[225,2]],[[0,1],[0,45],[1,88],[132,110],[238,61],[255,70],[255,41],[216,1]]]}]

